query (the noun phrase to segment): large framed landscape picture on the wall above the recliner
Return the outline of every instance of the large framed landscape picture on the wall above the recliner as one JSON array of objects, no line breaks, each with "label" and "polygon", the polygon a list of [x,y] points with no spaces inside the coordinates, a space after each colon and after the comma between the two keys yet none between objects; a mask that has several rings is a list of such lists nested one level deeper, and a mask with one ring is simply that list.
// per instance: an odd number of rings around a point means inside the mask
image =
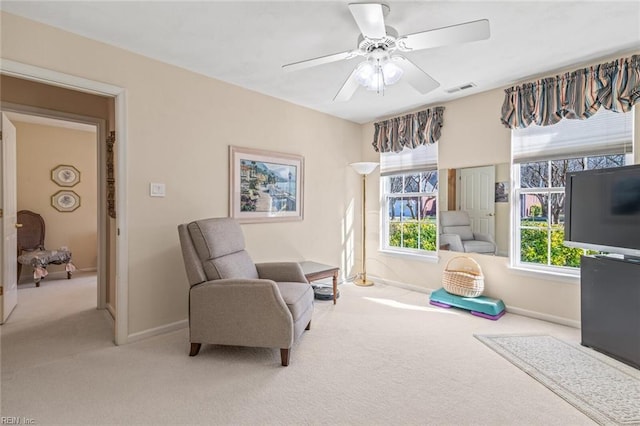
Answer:
[{"label": "large framed landscape picture on the wall above the recliner", "polygon": [[242,223],[303,219],[304,157],[229,146],[229,215]]}]

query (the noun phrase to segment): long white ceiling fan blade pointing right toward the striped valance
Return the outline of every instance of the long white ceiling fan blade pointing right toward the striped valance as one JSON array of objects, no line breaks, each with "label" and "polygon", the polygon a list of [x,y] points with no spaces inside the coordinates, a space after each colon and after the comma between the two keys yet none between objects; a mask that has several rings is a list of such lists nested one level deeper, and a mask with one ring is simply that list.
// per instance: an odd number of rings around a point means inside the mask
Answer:
[{"label": "long white ceiling fan blade pointing right toward the striped valance", "polygon": [[450,44],[467,43],[470,41],[486,40],[491,35],[489,21],[466,22],[450,27],[436,28],[435,30],[409,34],[398,39],[400,50],[411,51],[430,49],[432,47],[446,46]]}]

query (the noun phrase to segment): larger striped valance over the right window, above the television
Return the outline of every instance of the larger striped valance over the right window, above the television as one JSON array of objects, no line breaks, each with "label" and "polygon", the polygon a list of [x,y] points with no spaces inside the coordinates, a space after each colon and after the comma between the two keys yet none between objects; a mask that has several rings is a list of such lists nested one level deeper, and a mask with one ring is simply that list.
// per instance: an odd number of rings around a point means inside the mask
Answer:
[{"label": "larger striped valance over the right window, above the television", "polygon": [[505,90],[502,123],[511,129],[587,119],[604,107],[628,112],[640,100],[640,55]]}]

